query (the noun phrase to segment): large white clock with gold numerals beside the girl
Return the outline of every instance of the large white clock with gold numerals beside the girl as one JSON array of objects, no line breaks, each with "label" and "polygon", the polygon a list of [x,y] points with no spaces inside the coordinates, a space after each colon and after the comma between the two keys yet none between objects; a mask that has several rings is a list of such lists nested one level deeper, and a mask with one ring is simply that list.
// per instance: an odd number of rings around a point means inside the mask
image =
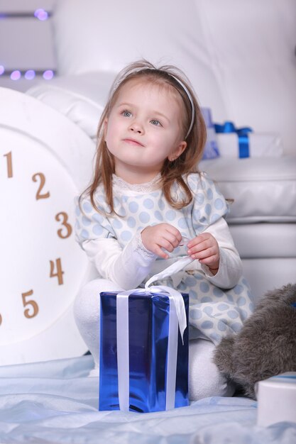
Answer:
[{"label": "large white clock with gold numerals beside the girl", "polygon": [[0,88],[0,365],[87,350],[72,303],[89,267],[73,224],[93,155],[61,113]]}]

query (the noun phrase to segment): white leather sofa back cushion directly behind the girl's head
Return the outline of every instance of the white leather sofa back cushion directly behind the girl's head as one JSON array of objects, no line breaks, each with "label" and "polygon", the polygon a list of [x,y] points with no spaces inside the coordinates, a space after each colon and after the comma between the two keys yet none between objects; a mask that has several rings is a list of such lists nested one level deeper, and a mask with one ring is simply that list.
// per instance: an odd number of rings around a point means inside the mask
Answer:
[{"label": "white leather sofa back cushion directly behind the girl's head", "polygon": [[117,73],[146,58],[156,65],[177,65],[187,74],[200,104],[226,109],[216,72],[204,45],[202,18],[194,0],[59,0],[53,36],[60,75]]}]

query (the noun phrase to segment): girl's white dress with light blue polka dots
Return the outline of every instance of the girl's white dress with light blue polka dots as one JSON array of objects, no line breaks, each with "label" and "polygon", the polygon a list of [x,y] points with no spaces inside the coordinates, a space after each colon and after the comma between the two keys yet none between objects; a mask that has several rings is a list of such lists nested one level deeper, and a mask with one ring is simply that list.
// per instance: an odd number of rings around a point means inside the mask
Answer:
[{"label": "girl's white dress with light blue polka dots", "polygon": [[[170,223],[188,240],[203,231],[208,231],[214,235],[220,246],[217,227],[219,228],[222,223],[226,226],[224,216],[228,212],[224,196],[206,173],[190,174],[187,177],[187,184],[192,190],[194,199],[185,208],[177,210],[168,204],[162,190],[155,187],[155,184],[150,187],[135,187],[114,176],[114,209],[118,216],[107,214],[109,206],[106,204],[104,189],[99,186],[95,199],[102,213],[98,213],[92,207],[87,196],[82,199],[80,206],[78,204],[76,206],[77,241],[84,248],[84,245],[92,243],[92,240],[112,238],[117,240],[121,249],[124,249],[146,226]],[[172,188],[172,196],[175,199],[182,197],[182,190],[177,184]],[[221,240],[221,245],[221,273],[231,274],[229,263],[231,264],[232,257],[236,256],[236,260],[240,264],[241,262],[230,234],[229,240],[225,238]],[[175,248],[169,253],[170,263],[186,256],[186,250],[185,245]],[[145,282],[155,274],[155,270],[167,266],[165,260],[160,258],[155,257],[154,262],[158,267],[151,267],[141,287],[144,287]],[[253,297],[248,282],[241,276],[241,272],[229,288],[225,288],[224,277],[219,277],[219,273],[213,276],[206,266],[194,261],[177,276],[153,284],[168,285],[190,294],[190,339],[208,338],[217,344],[224,336],[239,332],[243,321],[253,311]]]}]

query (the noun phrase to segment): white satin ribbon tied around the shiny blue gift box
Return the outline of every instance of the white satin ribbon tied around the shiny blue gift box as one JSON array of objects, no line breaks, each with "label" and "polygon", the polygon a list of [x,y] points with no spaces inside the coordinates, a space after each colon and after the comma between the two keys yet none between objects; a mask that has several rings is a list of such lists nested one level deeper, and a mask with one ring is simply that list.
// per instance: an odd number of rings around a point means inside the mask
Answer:
[{"label": "white satin ribbon tied around the shiny blue gift box", "polygon": [[[182,260],[183,259],[184,258],[182,258]],[[159,274],[163,275],[170,267]],[[152,279],[157,280],[158,275],[149,279],[150,282],[153,282]],[[145,289],[131,289],[125,292],[119,292],[116,296],[117,369],[119,408],[121,411],[129,411],[128,296],[132,293],[143,294],[147,292],[163,294],[163,296],[168,296],[170,300],[165,409],[170,410],[175,408],[178,326],[183,341],[183,334],[187,326],[185,304],[182,294],[177,292],[177,290],[166,287],[165,285],[148,288],[148,285],[149,281],[146,283]]]}]

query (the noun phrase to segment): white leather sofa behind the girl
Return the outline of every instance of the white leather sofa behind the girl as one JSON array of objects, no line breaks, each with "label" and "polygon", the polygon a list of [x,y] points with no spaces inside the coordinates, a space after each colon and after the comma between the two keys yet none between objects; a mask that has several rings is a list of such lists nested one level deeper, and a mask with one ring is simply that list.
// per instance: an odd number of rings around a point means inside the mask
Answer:
[{"label": "white leather sofa behind the girl", "polygon": [[200,168],[234,199],[229,226],[256,297],[295,282],[295,1],[58,0],[53,38],[59,75],[27,93],[94,142],[111,81],[141,57],[184,70],[215,122],[280,137],[278,157],[219,157]]}]

